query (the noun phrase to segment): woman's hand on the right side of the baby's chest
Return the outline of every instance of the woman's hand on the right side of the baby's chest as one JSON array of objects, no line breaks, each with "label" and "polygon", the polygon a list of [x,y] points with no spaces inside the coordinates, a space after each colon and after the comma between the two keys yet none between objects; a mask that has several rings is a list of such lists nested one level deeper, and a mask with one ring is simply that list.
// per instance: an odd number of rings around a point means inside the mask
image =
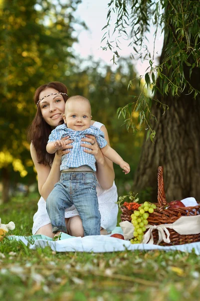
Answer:
[{"label": "woman's hand on the right side of the baby's chest", "polygon": [[86,141],[91,144],[81,143],[81,146],[87,147],[87,148],[83,149],[84,152],[94,155],[96,162],[103,164],[103,162],[105,162],[105,159],[104,159],[103,154],[101,153],[101,149],[99,148],[99,144],[97,143],[95,136],[86,135],[86,137],[87,138],[82,138],[81,141]]}]

